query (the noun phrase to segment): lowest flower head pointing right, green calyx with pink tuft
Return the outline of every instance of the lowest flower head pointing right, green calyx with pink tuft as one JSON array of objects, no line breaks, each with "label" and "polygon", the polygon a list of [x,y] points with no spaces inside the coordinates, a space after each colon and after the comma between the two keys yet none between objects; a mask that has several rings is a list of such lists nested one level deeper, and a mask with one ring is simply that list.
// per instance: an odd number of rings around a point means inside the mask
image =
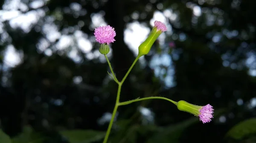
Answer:
[{"label": "lowest flower head pointing right, green calyx with pink tuft", "polygon": [[211,118],[213,118],[214,109],[210,104],[207,104],[206,106],[197,106],[181,100],[177,103],[177,108],[180,111],[189,112],[199,117],[200,121],[203,123],[208,123],[212,121]]}]

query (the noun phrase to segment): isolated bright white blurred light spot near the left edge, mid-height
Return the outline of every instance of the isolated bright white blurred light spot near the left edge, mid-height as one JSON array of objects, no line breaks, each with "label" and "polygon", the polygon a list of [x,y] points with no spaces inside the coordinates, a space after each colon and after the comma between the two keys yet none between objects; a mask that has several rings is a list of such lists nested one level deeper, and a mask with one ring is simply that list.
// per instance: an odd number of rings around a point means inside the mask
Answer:
[{"label": "isolated bright white blurred light spot near the left edge, mid-height", "polygon": [[4,63],[8,67],[15,67],[20,64],[23,53],[18,52],[13,45],[8,45],[5,51]]}]

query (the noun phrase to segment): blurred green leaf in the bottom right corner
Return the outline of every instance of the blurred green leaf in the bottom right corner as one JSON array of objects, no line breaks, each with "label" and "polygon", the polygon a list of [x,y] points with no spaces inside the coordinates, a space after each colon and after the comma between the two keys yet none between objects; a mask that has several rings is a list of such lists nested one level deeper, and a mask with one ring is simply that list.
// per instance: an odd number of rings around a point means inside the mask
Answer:
[{"label": "blurred green leaf in the bottom right corner", "polygon": [[226,137],[241,140],[252,134],[256,134],[256,118],[250,118],[236,124],[227,132]]}]

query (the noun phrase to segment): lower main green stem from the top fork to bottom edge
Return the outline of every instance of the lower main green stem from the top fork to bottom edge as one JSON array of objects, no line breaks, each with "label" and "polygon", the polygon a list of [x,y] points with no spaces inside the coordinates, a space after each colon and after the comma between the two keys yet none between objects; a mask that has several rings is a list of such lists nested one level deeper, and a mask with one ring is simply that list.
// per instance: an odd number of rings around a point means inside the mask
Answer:
[{"label": "lower main green stem from the top fork to bottom edge", "polygon": [[122,85],[119,84],[118,85],[118,90],[117,90],[117,96],[116,96],[116,104],[115,104],[115,107],[114,107],[114,110],[113,110],[113,113],[112,113],[112,117],[111,117],[111,121],[108,125],[108,130],[107,130],[107,133],[105,135],[105,138],[104,138],[104,141],[103,143],[107,143],[108,141],[108,136],[110,134],[110,131],[111,131],[111,128],[112,128],[112,125],[113,125],[113,121],[115,119],[115,116],[116,116],[116,111],[117,111],[117,108],[118,108],[118,104],[119,104],[119,98],[120,98],[120,93],[121,93],[121,87]]}]

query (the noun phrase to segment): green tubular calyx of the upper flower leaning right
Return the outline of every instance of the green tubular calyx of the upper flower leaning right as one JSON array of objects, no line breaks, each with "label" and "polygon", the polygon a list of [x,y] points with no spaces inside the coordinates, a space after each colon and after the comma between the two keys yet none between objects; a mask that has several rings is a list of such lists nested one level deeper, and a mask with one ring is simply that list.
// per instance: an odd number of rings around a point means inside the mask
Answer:
[{"label": "green tubular calyx of the upper flower leaning right", "polygon": [[162,31],[157,30],[157,28],[153,28],[148,35],[148,38],[139,46],[138,57],[148,54],[152,45],[156,41],[157,37],[162,33]]}]

